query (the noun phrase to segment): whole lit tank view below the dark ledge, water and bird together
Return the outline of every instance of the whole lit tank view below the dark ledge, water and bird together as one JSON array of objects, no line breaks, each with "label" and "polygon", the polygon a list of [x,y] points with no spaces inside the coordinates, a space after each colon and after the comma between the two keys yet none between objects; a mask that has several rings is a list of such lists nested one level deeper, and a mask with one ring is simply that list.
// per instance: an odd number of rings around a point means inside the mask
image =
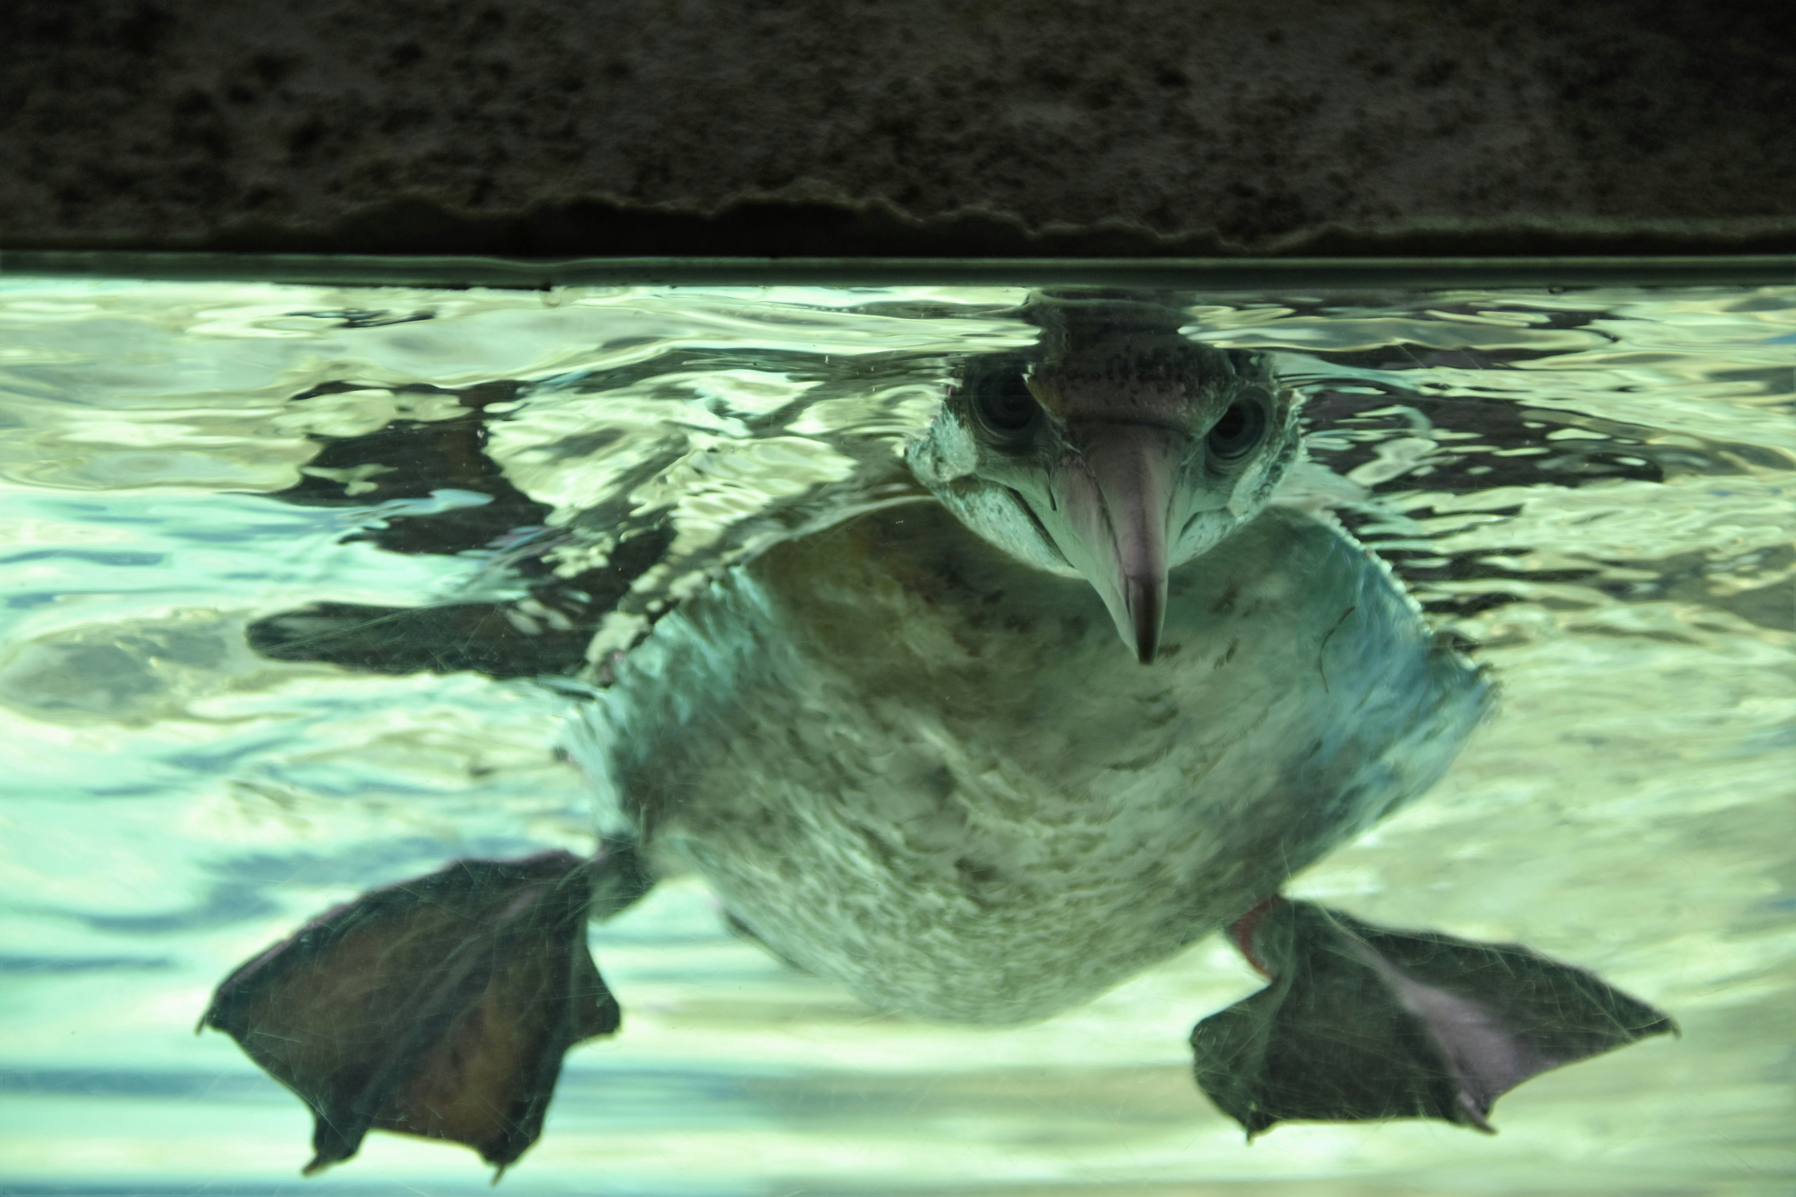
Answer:
[{"label": "whole lit tank view below the dark ledge, water and bird together", "polygon": [[1796,285],[0,275],[0,1193],[1796,1186]]}]

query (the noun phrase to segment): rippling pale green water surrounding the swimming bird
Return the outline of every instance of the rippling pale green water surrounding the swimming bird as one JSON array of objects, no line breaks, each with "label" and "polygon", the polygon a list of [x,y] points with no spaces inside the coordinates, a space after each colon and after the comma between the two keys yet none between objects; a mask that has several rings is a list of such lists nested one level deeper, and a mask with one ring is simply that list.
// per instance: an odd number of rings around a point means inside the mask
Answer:
[{"label": "rippling pale green water surrounding the swimming bird", "polygon": [[[1034,339],[1004,314],[1024,294],[0,282],[9,1192],[483,1188],[465,1150],[395,1136],[298,1181],[298,1102],[189,1030],[330,903],[587,851],[568,698],[271,660],[246,626],[515,599],[541,546],[577,567],[672,528],[600,626],[627,646],[706,571],[876,502],[955,357]],[[569,1057],[508,1190],[1787,1190],[1796,289],[1209,298],[1189,336],[1275,355],[1325,467],[1295,497],[1503,689],[1424,800],[1291,892],[1527,942],[1683,1041],[1532,1080],[1498,1140],[1284,1125],[1248,1150],[1184,1041],[1259,983],[1216,939],[1047,1023],[945,1028],[783,967],[681,881],[594,930],[627,1028]],[[472,406],[551,531],[388,551],[481,495],[321,450]]]}]

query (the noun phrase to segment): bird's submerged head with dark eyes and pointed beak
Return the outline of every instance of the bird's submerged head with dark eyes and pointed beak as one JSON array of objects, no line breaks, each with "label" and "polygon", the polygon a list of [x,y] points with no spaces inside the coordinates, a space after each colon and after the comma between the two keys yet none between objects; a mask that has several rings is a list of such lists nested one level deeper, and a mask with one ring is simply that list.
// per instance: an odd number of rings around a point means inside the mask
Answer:
[{"label": "bird's submerged head with dark eyes and pointed beak", "polygon": [[1085,578],[1148,664],[1169,571],[1259,515],[1297,459],[1297,400],[1264,355],[1180,336],[1175,307],[1022,314],[1040,343],[968,361],[907,461],[988,542]]}]

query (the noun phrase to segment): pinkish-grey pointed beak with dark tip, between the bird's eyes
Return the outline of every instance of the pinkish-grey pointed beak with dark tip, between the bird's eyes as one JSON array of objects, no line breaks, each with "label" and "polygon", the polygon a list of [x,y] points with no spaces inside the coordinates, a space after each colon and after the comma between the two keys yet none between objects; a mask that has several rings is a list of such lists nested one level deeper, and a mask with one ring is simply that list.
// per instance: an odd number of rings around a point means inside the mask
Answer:
[{"label": "pinkish-grey pointed beak with dark tip, between the bird's eyes", "polygon": [[1061,513],[1054,540],[1148,664],[1166,623],[1169,522],[1187,440],[1151,424],[1094,422],[1070,427],[1069,441],[1078,452],[1051,483]]}]

